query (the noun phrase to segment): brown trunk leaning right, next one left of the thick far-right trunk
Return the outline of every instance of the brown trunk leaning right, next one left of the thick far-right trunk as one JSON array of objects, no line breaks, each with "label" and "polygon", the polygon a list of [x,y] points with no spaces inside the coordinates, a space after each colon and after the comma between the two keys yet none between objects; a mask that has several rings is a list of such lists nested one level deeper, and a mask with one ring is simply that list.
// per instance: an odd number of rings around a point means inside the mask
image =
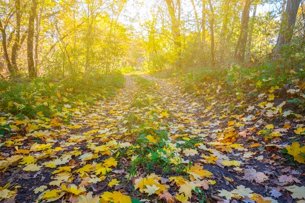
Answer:
[{"label": "brown trunk leaning right, next one left of the thick far-right trunk", "polygon": [[248,39],[248,26],[250,19],[250,6],[251,6],[251,0],[243,0],[240,33],[235,48],[235,59],[238,62],[243,62],[243,60],[245,60],[245,53],[246,53],[247,39]]}]

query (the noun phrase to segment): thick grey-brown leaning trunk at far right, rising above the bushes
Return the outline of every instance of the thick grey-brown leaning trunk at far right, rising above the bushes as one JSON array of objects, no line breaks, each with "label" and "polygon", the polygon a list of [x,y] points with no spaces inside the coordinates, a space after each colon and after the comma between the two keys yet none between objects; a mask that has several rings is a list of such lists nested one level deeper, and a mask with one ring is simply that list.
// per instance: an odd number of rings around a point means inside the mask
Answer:
[{"label": "thick grey-brown leaning trunk at far right, rising above the bushes", "polygon": [[281,52],[281,47],[289,44],[293,35],[293,28],[296,20],[296,15],[300,5],[300,0],[288,0],[286,10],[281,23],[278,41],[274,49],[275,53]]}]

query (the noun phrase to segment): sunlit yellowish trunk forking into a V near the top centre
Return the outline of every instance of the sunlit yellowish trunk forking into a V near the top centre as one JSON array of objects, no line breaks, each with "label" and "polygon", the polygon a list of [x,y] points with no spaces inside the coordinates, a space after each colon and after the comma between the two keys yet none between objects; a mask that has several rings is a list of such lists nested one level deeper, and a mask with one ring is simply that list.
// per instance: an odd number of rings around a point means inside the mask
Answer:
[{"label": "sunlit yellowish trunk forking into a V near the top centre", "polygon": [[171,30],[172,35],[174,38],[174,44],[177,50],[178,60],[177,60],[177,66],[181,68],[181,42],[180,42],[180,12],[181,12],[181,5],[180,0],[177,0],[177,6],[178,6],[178,16],[176,17],[175,10],[174,10],[174,2],[173,0],[165,0],[170,20],[171,20]]}]

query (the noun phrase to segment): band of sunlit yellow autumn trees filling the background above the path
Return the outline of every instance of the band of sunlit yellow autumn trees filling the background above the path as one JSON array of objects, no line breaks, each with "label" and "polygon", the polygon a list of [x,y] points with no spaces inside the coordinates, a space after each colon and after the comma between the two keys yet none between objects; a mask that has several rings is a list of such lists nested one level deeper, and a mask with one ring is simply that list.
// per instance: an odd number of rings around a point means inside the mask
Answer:
[{"label": "band of sunlit yellow autumn trees filling the background above the path", "polygon": [[[126,0],[3,0],[0,77],[108,74],[135,63],[182,70],[304,54],[304,0],[130,1],[136,13]],[[270,11],[261,12],[264,4]]]}]

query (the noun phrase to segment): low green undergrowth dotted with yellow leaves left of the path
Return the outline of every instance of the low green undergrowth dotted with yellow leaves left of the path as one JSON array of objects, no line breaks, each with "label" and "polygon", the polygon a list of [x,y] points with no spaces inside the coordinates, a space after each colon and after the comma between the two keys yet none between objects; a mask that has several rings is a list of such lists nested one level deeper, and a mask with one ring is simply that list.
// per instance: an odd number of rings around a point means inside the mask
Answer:
[{"label": "low green undergrowth dotted with yellow leaves left of the path", "polygon": [[[86,106],[93,105],[98,99],[109,98],[123,84],[124,78],[119,74],[92,74],[63,80],[45,77],[32,81],[2,81],[0,110],[19,118],[34,118],[41,114],[52,117],[64,108],[75,107],[77,102]],[[69,116],[66,118],[70,119]]]}]

